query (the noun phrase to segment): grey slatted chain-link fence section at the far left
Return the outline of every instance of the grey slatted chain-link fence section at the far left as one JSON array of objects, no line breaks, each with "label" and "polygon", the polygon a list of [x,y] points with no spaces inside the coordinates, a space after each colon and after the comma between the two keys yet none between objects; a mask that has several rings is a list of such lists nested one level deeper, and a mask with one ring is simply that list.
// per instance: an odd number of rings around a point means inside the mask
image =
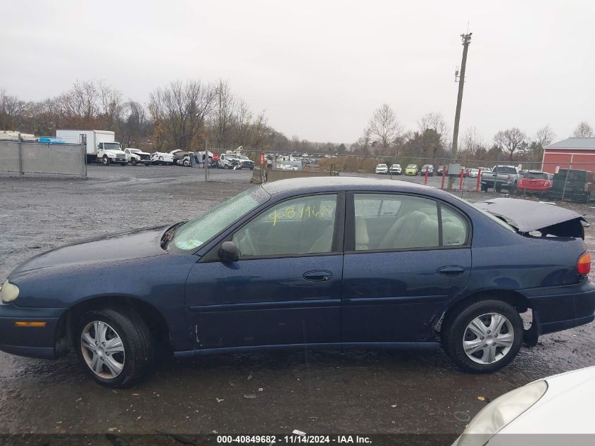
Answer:
[{"label": "grey slatted chain-link fence section at the far left", "polygon": [[0,171],[87,177],[81,144],[0,141]]}]

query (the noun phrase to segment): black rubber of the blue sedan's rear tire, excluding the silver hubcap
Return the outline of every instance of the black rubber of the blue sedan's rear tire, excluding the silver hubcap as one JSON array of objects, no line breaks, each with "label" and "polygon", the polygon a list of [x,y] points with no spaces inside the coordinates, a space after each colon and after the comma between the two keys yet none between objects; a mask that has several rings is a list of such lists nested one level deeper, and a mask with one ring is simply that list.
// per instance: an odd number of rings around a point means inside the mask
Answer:
[{"label": "black rubber of the blue sedan's rear tire, excluding the silver hubcap", "polygon": [[[514,338],[512,345],[506,354],[489,364],[480,364],[470,359],[465,353],[465,350],[463,349],[463,337],[465,336],[469,324],[475,318],[490,313],[500,314],[508,319],[514,333]],[[505,329],[508,332],[508,328],[503,328],[503,330]],[[456,307],[446,315],[440,331],[442,347],[446,354],[457,366],[470,373],[491,373],[508,365],[515,359],[520,350],[523,334],[524,329],[522,327],[522,319],[520,318],[518,311],[516,311],[511,304],[497,299],[482,300],[469,305]],[[479,339],[479,337],[477,339]]]}]

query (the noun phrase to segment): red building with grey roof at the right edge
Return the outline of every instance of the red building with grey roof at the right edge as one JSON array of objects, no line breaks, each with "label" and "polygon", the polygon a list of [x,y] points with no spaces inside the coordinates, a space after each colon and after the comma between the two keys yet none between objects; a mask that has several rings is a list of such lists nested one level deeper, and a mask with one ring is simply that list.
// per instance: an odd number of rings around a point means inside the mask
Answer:
[{"label": "red building with grey roof at the right edge", "polygon": [[569,166],[595,172],[595,138],[568,138],[544,147],[542,171],[556,173],[556,168]]}]

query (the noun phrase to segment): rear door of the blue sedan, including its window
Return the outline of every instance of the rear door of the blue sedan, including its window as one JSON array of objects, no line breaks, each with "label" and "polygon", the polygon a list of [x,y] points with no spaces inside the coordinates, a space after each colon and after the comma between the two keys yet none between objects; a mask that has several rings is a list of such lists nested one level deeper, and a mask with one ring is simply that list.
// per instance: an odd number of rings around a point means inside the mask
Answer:
[{"label": "rear door of the blue sedan, including its window", "polygon": [[429,341],[432,316],[469,280],[468,219],[408,194],[351,194],[346,212],[342,340]]}]

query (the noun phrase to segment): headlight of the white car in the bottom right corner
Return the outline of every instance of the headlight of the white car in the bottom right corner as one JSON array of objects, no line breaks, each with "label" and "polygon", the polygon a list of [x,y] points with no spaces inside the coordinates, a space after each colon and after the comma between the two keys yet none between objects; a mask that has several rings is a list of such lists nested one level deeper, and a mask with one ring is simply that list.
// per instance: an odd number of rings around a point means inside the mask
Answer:
[{"label": "headlight of the white car in the bottom right corner", "polygon": [[546,381],[536,381],[494,399],[471,420],[457,446],[485,445],[496,433],[539,401],[548,390]]}]

